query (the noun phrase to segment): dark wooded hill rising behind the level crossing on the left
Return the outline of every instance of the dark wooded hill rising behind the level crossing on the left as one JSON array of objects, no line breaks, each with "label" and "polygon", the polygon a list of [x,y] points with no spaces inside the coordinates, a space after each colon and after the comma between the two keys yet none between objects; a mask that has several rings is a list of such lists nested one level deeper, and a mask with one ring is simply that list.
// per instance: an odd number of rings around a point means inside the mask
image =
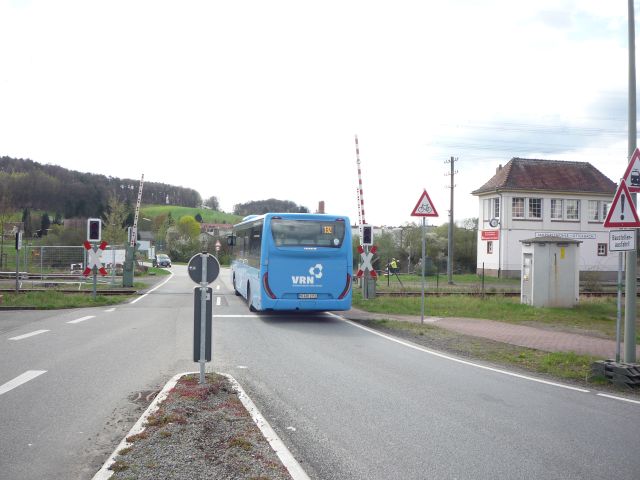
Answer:
[{"label": "dark wooded hill rising behind the level crossing on the left", "polygon": [[[0,202],[8,208],[46,210],[66,218],[102,216],[110,195],[135,205],[139,179],[107,177],[43,165],[33,160],[0,157]],[[191,188],[145,182],[143,204],[197,207],[200,194]]]}]

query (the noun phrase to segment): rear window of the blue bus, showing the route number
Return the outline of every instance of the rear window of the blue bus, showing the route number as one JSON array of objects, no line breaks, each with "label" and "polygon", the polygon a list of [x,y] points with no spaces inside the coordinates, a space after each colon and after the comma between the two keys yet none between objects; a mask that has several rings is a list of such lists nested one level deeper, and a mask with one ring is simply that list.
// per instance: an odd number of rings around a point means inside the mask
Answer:
[{"label": "rear window of the blue bus, showing the route number", "polygon": [[345,222],[317,220],[271,220],[271,234],[276,247],[342,246]]}]

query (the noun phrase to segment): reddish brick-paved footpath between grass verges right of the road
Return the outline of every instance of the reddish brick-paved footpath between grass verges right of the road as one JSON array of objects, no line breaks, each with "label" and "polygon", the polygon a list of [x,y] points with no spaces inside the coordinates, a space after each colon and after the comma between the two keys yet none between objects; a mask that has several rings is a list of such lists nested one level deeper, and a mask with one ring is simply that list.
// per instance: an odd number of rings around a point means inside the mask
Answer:
[{"label": "reddish brick-paved footpath between grass verges right of the road", "polygon": [[[355,308],[345,312],[343,316],[358,320],[393,319],[420,323],[419,316],[370,313]],[[557,330],[514,325],[478,318],[425,317],[424,322],[465,335],[488,338],[498,342],[535,348],[546,352],[575,352],[603,358],[615,358],[616,356],[616,342],[614,340],[577,333],[559,332]],[[620,349],[624,351],[624,346],[621,345]],[[636,355],[640,358],[640,347],[636,347]]]}]

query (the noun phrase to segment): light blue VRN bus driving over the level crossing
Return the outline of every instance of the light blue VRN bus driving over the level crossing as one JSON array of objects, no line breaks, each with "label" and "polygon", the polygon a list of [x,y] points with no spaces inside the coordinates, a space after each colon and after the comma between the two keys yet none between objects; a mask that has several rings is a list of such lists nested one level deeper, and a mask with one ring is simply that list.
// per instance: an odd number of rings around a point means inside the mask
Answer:
[{"label": "light blue VRN bus driving over the level crossing", "polygon": [[353,253],[343,216],[250,215],[234,225],[231,281],[252,311],[349,310]]}]

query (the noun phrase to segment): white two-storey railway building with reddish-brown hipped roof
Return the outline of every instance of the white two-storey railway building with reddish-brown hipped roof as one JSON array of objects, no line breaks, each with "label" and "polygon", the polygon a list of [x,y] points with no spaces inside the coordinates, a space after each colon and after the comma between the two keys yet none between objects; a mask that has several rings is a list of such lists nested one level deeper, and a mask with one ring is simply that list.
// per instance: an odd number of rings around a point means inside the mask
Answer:
[{"label": "white two-storey railway building with reddish-brown hipped roof", "polygon": [[522,240],[579,240],[580,277],[615,279],[617,252],[603,227],[617,185],[587,162],[512,158],[478,197],[478,273],[520,277]]}]

